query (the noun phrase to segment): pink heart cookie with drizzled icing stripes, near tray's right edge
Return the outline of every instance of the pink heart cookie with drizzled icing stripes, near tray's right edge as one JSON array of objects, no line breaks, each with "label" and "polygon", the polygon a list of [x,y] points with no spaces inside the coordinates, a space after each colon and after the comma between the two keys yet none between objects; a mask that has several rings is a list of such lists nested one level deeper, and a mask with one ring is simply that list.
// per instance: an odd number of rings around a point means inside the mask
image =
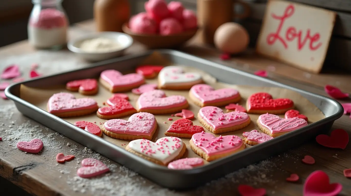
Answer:
[{"label": "pink heart cookie with drizzled icing stripes, near tray's right edge", "polygon": [[258,117],[257,126],[264,133],[277,137],[307,126],[307,121],[298,117],[280,118],[277,115],[266,113]]}]

